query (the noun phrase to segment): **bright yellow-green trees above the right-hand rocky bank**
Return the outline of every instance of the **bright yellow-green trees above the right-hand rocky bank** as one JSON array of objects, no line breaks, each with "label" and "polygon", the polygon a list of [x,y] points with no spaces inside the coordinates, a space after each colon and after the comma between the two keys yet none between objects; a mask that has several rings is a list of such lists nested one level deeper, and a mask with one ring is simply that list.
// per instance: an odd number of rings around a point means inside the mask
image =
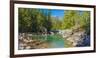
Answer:
[{"label": "bright yellow-green trees above the right-hand rocky bank", "polygon": [[86,33],[90,33],[90,12],[89,11],[76,11],[67,10],[64,12],[64,20],[62,29],[69,29],[74,26],[80,26],[85,29]]}]

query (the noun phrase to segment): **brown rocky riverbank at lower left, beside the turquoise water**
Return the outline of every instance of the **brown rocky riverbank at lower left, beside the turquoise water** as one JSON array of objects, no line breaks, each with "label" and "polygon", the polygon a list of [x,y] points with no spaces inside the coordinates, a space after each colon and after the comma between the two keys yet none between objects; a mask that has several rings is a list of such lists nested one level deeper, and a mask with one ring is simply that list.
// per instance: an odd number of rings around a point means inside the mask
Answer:
[{"label": "brown rocky riverbank at lower left, beside the turquoise water", "polygon": [[49,48],[49,44],[46,41],[41,41],[32,36],[19,35],[19,50],[22,49],[40,49],[40,48]]}]

